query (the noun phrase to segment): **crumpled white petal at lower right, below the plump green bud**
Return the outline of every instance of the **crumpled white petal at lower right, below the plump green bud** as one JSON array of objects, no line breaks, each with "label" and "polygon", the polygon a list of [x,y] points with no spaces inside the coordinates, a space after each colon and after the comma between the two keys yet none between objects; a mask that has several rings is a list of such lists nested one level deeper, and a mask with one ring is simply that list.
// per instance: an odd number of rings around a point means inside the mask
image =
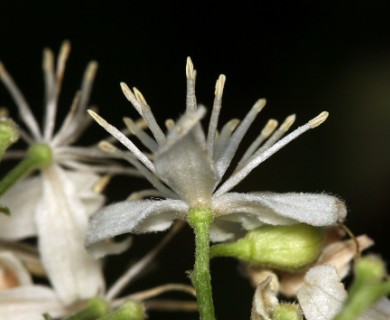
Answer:
[{"label": "crumpled white petal at lower right, below the plump green bud", "polygon": [[331,320],[342,307],[347,293],[336,269],[326,265],[311,268],[297,293],[307,320]]}]

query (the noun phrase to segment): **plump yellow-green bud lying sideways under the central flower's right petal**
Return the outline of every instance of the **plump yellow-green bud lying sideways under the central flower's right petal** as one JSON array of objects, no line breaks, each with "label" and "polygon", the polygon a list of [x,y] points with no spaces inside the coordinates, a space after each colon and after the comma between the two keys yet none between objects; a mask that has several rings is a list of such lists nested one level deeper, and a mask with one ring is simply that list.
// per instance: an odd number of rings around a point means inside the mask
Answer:
[{"label": "plump yellow-green bud lying sideways under the central flower's right petal", "polygon": [[266,268],[294,271],[321,253],[324,230],[307,224],[263,226],[235,242],[210,248],[210,257],[235,257]]}]

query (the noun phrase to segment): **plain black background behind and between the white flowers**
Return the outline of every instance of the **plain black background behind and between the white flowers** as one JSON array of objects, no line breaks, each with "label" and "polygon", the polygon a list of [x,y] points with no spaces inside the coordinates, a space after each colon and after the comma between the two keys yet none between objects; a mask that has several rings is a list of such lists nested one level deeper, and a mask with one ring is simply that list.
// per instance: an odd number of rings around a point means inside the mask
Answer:
[{"label": "plain black background behind and between the white flowers", "polygon": [[[90,59],[99,62],[91,102],[120,126],[135,116],[119,82],[137,86],[156,118],[176,118],[185,106],[185,61],[198,70],[198,101],[210,106],[214,83],[227,75],[222,121],[242,118],[260,97],[268,100],[248,134],[270,117],[297,114],[297,125],[322,110],[328,121],[267,160],[236,190],[329,192],[345,199],[346,224],[376,240],[372,252],[390,259],[390,2],[388,1],[34,1],[0,2],[0,59],[37,113],[41,112],[41,52],[72,43],[61,102],[65,113]],[[11,99],[0,87],[0,104]],[[94,125],[85,143],[104,137]],[[251,141],[251,138],[246,140]],[[110,201],[146,186],[116,178]],[[160,234],[135,238],[110,261],[109,279],[146,253]],[[193,263],[191,230],[159,256],[158,265],[130,292],[187,282]],[[230,259],[212,262],[219,319],[248,319],[252,288]],[[151,313],[151,319],[196,315]]]}]

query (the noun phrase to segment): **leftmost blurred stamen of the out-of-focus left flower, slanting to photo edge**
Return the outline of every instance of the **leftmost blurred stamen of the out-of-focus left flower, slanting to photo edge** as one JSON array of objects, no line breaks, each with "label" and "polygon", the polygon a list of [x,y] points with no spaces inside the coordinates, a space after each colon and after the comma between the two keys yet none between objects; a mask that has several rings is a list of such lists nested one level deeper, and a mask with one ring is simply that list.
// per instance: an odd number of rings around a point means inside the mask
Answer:
[{"label": "leftmost blurred stamen of the out-of-focus left flower, slanting to photo edge", "polygon": [[22,92],[16,86],[12,77],[8,74],[4,65],[0,62],[0,80],[3,81],[4,85],[8,89],[12,98],[14,99],[16,106],[19,111],[19,115],[22,118],[23,122],[29,128],[35,141],[42,140],[41,130],[39,129],[38,123],[34,118],[31,108],[28,105],[26,99],[24,98]]}]

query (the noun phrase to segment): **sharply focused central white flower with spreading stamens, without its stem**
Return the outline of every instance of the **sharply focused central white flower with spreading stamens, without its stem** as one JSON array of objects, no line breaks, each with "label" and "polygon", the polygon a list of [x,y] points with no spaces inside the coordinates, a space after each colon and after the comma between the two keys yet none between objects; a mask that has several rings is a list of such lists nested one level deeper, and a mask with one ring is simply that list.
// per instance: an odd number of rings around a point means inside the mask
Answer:
[{"label": "sharply focused central white flower with spreading stamens, without its stem", "polygon": [[278,129],[276,120],[270,120],[239,161],[233,174],[224,179],[241,140],[264,107],[265,100],[257,101],[240,124],[238,120],[232,120],[217,134],[225,82],[225,76],[221,75],[216,84],[206,135],[200,124],[206,109],[196,103],[196,72],[190,59],[187,60],[186,74],[187,108],[176,124],[172,120],[167,121],[167,135],[158,126],[142,94],[137,89],[131,91],[122,84],[126,98],[148,124],[154,139],[143,131],[132,130],[133,122],[130,119],[126,119],[125,123],[152,152],[151,157],[142,153],[119,130],[90,111],[93,118],[127,147],[130,153],[116,150],[107,143],[102,144],[102,148],[122,155],[136,166],[157,190],[150,192],[150,196],[162,199],[123,201],[103,208],[92,217],[87,245],[98,245],[101,240],[126,232],[166,230],[173,220],[186,220],[188,211],[196,207],[211,208],[213,211],[215,219],[211,227],[212,241],[231,238],[240,230],[240,225],[247,230],[262,224],[286,225],[297,222],[328,226],[345,217],[344,203],[327,194],[229,192],[261,162],[300,134],[325,121],[327,112],[322,112],[283,139],[280,138],[291,126],[294,116],[288,117]]}]

